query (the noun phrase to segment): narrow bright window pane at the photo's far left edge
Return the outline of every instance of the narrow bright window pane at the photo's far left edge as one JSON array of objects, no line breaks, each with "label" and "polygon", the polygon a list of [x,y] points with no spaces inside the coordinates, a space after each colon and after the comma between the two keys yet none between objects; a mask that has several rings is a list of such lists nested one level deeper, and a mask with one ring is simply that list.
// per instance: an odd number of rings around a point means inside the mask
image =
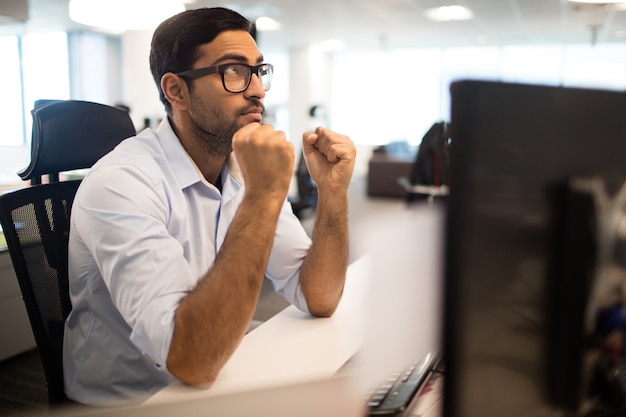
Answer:
[{"label": "narrow bright window pane at the photo's far left edge", "polygon": [[0,146],[20,146],[24,143],[18,42],[16,36],[0,36],[0,56],[2,56],[0,79],[3,80],[3,98],[0,100],[0,114],[3,120]]}]

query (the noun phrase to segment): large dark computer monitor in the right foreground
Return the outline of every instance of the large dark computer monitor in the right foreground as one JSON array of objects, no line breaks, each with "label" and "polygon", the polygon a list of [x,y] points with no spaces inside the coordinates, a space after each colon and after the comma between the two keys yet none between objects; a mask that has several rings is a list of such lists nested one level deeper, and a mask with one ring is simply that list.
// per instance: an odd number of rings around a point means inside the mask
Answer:
[{"label": "large dark computer monitor in the right foreground", "polygon": [[617,241],[600,239],[619,235],[626,210],[626,93],[476,80],[450,91],[444,415],[623,411],[619,268],[611,318],[594,303],[619,260]]}]

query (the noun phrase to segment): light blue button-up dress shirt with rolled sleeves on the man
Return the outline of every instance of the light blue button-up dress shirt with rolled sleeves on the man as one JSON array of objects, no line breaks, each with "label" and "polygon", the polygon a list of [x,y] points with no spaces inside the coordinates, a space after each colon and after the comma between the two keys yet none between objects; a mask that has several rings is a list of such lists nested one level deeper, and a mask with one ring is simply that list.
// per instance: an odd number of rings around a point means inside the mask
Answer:
[{"label": "light blue button-up dress shirt with rolled sleeves on the man", "polygon": [[[244,194],[232,156],[221,178],[220,192],[202,177],[167,118],[92,167],[71,216],[68,397],[138,402],[175,380],[165,364],[176,308],[213,264]],[[266,276],[305,312],[299,271],[310,245],[285,201]]]}]

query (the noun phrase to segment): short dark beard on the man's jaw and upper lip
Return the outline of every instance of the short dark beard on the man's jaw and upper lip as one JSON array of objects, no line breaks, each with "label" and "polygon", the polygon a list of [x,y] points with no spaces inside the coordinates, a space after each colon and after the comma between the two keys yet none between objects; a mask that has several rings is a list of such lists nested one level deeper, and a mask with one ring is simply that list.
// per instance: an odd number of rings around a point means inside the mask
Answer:
[{"label": "short dark beard on the man's jaw and upper lip", "polygon": [[204,102],[192,95],[190,116],[194,135],[209,155],[224,158],[230,155],[233,150],[233,136],[246,124],[237,122],[236,119],[250,106],[263,108],[263,104],[258,100],[251,100],[250,105],[238,109],[232,117],[229,117],[221,108],[207,107]]}]

